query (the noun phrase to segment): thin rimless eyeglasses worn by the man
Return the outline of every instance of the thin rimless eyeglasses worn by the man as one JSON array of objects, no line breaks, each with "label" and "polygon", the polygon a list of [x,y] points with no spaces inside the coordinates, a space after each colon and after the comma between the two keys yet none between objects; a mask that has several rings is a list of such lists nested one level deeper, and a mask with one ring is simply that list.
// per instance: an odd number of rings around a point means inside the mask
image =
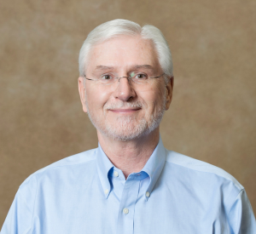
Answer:
[{"label": "thin rimless eyeglasses worn by the man", "polygon": [[100,83],[102,85],[110,85],[113,83],[116,83],[116,81],[120,80],[120,78],[127,78],[128,81],[131,81],[132,83],[136,83],[136,84],[147,84],[147,83],[151,83],[151,81],[153,79],[162,77],[163,75],[165,75],[165,73],[161,74],[158,77],[148,77],[148,75],[146,73],[142,73],[142,72],[131,72],[129,77],[117,77],[115,74],[109,73],[109,74],[103,74],[99,77],[96,77],[94,79],[90,79],[87,78],[85,75],[85,79],[90,80],[90,81],[95,81],[97,83]]}]

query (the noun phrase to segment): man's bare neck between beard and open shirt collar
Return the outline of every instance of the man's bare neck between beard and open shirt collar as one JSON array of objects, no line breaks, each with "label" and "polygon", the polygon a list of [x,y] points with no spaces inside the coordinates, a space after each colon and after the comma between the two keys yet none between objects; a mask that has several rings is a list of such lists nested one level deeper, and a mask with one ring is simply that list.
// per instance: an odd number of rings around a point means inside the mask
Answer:
[{"label": "man's bare neck between beard and open shirt collar", "polygon": [[140,139],[122,141],[109,138],[97,131],[102,150],[116,168],[122,170],[125,179],[131,173],[139,172],[152,155],[160,138],[159,128]]}]

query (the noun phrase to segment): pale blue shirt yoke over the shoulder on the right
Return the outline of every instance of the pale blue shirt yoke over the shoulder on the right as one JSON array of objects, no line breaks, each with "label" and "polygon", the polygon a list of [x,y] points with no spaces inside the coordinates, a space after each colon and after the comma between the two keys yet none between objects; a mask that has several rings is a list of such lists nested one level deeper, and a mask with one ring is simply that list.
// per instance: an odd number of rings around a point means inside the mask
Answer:
[{"label": "pale blue shirt yoke over the shoulder on the right", "polygon": [[218,168],[210,163],[183,155],[176,151],[166,151],[167,163],[172,163],[173,165],[183,167],[186,170],[193,171],[196,174],[201,174],[202,178],[206,178],[207,175],[213,175],[218,179],[230,181],[239,191],[244,189],[244,187],[231,174],[227,173],[222,168]]}]

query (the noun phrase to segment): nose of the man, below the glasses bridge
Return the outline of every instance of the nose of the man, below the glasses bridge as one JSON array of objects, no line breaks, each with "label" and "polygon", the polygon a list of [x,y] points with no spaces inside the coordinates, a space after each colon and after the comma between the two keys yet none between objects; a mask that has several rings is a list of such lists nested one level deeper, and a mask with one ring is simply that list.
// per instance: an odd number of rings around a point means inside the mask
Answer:
[{"label": "nose of the man, below the glasses bridge", "polygon": [[114,90],[115,98],[123,101],[135,98],[136,92],[132,88],[128,77],[119,77],[117,83],[117,88]]}]

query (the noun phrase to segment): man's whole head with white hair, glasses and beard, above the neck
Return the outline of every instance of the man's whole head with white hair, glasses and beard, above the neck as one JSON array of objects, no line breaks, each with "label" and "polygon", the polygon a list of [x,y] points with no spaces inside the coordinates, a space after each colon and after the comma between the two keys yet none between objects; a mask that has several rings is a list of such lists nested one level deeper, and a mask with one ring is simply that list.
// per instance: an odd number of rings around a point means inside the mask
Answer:
[{"label": "man's whole head with white hair, glasses and beard, above the neck", "polygon": [[173,86],[172,56],[159,29],[129,20],[97,26],[80,50],[79,71],[83,109],[98,134],[133,140],[158,130]]}]

